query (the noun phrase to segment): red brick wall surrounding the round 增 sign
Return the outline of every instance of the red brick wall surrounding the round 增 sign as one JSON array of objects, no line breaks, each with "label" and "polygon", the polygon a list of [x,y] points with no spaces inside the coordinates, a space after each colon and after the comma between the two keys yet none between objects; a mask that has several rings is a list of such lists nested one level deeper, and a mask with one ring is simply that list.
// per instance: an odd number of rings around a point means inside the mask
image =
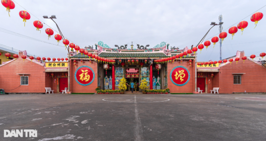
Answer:
[{"label": "red brick wall surrounding the round \u589e sign", "polygon": [[[174,63],[168,63],[167,64],[167,82],[168,82],[168,88],[170,89],[170,93],[192,93],[195,91],[195,64],[194,60],[192,60],[192,65],[189,66],[189,60],[184,61],[181,63],[180,61],[175,61]],[[175,84],[172,83],[170,79],[170,73],[171,70],[175,66],[184,66],[188,69],[190,73],[190,79],[188,83],[184,86],[176,86]]]}]

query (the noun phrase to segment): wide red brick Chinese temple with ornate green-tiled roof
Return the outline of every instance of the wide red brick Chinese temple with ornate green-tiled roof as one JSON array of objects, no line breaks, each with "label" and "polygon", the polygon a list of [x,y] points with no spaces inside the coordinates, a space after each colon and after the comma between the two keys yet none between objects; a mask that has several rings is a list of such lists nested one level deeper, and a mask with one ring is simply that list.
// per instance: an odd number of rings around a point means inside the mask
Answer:
[{"label": "wide red brick Chinese temple with ornate green-tiled roof", "polygon": [[[189,48],[175,48],[166,42],[153,48],[148,44],[136,46],[137,49],[131,43],[110,48],[99,41],[95,49],[91,46],[84,48],[87,54],[73,51],[68,61],[59,62],[24,60],[21,56],[27,56],[27,52],[20,51],[17,59],[0,65],[0,88],[7,93],[45,93],[47,87],[55,93],[65,88],[72,93],[94,93],[96,87],[118,89],[120,80],[125,78],[128,84],[133,81],[139,85],[146,79],[148,89],[169,88],[170,93],[192,93],[196,89],[210,93],[213,88],[218,88],[219,93],[266,92],[262,77],[266,74],[265,60],[248,58],[245,63],[241,59],[221,64],[205,63],[196,62],[196,55],[192,52],[157,62],[187,52]],[[242,56],[245,53],[238,51],[230,58]],[[139,87],[135,89],[142,91]]]}]

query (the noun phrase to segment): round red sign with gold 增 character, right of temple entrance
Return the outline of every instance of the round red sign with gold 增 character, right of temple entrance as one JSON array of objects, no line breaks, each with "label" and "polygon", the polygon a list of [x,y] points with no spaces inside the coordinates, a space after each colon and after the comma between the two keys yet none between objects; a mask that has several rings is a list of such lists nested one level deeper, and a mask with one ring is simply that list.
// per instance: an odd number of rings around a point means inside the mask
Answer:
[{"label": "round red sign with gold \u589e character, right of temple entrance", "polygon": [[170,73],[170,79],[177,86],[184,86],[190,79],[190,73],[184,66],[175,66]]}]

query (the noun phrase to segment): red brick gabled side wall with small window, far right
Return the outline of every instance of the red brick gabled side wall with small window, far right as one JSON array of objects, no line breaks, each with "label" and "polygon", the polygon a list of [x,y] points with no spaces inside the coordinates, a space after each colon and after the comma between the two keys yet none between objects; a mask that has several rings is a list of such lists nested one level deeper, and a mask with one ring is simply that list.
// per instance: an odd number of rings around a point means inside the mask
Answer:
[{"label": "red brick gabled side wall with small window, far right", "polygon": [[[241,58],[244,56],[240,54]],[[232,73],[246,73],[241,75],[241,84],[234,84],[234,77]],[[226,64],[220,67],[219,74],[219,93],[233,93],[233,92],[266,92],[266,68],[262,65],[256,64],[252,60],[240,59],[236,64],[233,61],[232,64]]]}]

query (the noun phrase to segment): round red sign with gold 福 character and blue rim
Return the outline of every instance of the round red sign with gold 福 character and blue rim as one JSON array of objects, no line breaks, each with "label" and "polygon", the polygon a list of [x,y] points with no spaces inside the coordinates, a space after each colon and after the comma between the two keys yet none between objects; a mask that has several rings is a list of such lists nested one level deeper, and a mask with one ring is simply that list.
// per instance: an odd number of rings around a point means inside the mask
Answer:
[{"label": "round red sign with gold \u798f character and blue rim", "polygon": [[90,66],[82,65],[76,69],[75,80],[82,86],[92,84],[94,77],[94,71]]}]

